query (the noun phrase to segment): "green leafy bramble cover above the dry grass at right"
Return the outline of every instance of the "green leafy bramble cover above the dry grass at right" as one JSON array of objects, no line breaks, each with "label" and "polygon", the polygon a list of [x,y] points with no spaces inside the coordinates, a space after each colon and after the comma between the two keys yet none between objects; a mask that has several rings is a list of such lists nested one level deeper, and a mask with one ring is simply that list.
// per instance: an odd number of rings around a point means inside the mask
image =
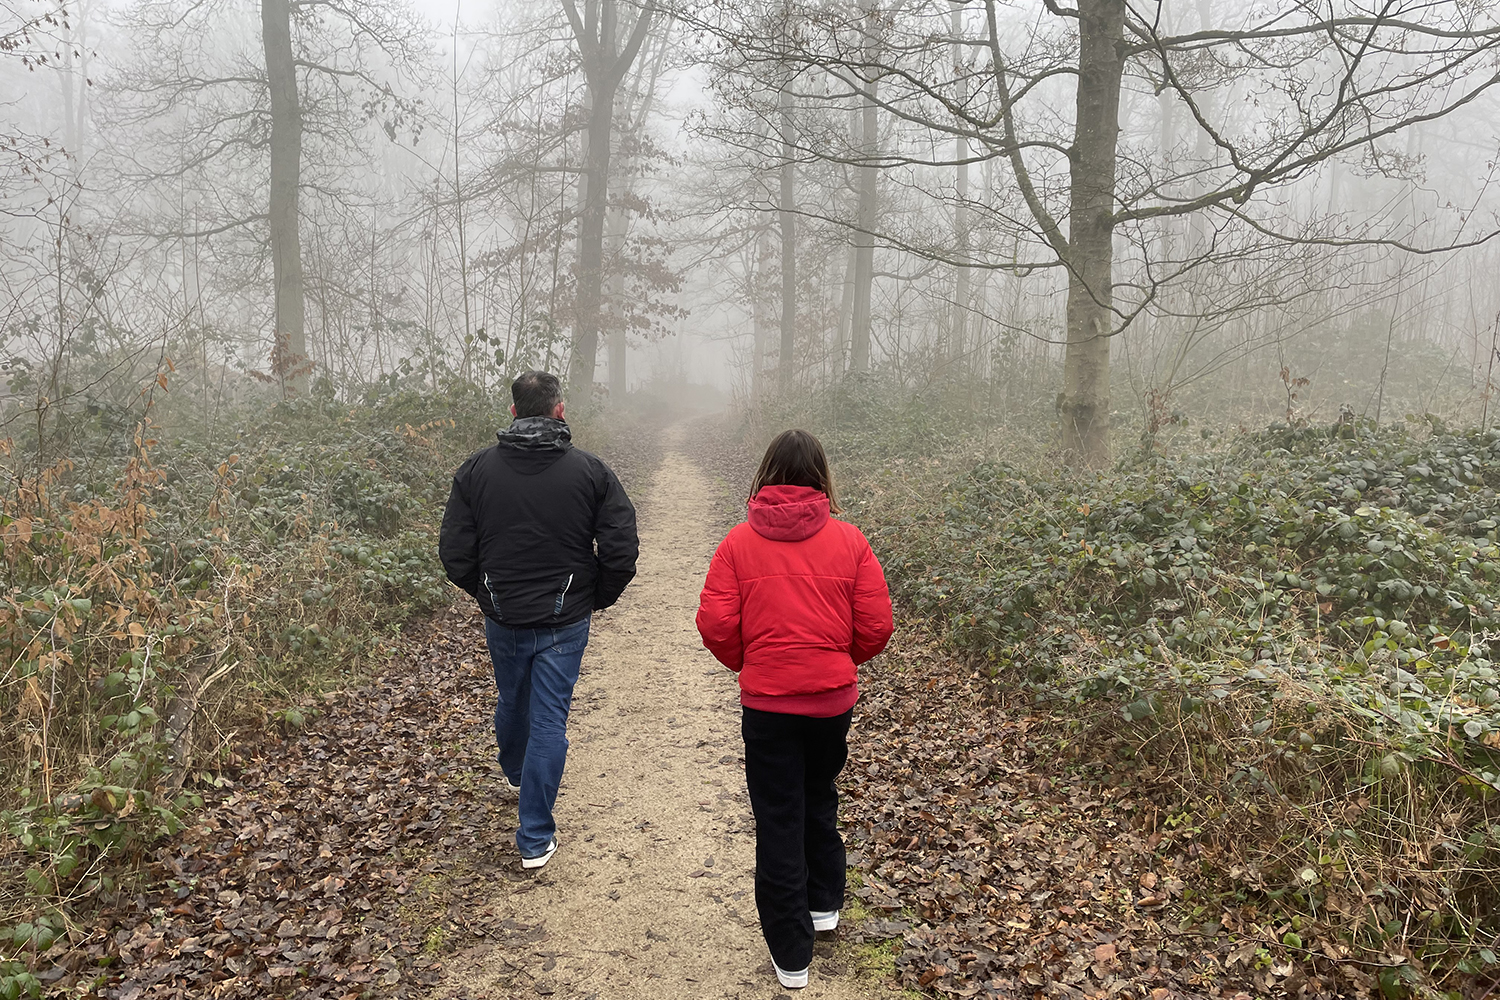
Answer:
[{"label": "green leafy bramble cover above the dry grass at right", "polygon": [[[1104,477],[975,468],[882,519],[900,597],[1040,690],[1316,679],[1500,789],[1500,432],[1272,430]],[[1082,655],[1086,651],[1086,655]]]}]

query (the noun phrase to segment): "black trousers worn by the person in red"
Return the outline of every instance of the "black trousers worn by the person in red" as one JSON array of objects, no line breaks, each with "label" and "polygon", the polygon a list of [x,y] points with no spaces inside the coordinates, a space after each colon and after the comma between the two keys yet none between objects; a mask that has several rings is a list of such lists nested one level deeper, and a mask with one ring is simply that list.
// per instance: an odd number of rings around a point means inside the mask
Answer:
[{"label": "black trousers worn by the person in red", "polygon": [[812,910],[838,910],[844,850],[834,778],[849,757],[849,720],[744,708],[746,786],[754,813],[754,904],[771,958],[786,972],[813,961]]}]

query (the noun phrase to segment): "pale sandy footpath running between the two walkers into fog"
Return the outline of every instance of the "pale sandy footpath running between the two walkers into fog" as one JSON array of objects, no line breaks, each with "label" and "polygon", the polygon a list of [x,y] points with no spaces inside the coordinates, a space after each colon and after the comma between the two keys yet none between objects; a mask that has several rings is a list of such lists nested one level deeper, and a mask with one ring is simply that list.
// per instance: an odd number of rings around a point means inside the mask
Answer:
[{"label": "pale sandy footpath running between the two walkers into fog", "polygon": [[[734,678],[699,643],[716,490],[669,436],[640,514],[640,573],[596,619],[568,724],[560,849],[536,876],[496,865],[495,943],[438,996],[777,997],[752,891],[754,834]],[[800,997],[867,1000],[819,943]]]}]

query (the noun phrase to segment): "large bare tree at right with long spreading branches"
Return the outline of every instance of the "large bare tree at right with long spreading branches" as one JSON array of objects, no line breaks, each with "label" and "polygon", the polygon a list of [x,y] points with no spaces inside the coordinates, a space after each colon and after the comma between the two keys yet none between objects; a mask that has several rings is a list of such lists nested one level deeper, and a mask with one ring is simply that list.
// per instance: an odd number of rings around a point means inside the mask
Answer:
[{"label": "large bare tree at right with long spreading branches", "polygon": [[[1174,282],[1233,268],[1275,246],[1432,250],[1490,235],[1418,244],[1383,219],[1340,226],[1281,211],[1276,198],[1330,160],[1410,174],[1416,165],[1392,147],[1401,133],[1474,105],[1500,81],[1491,61],[1500,24],[1490,6],[1364,10],[1294,0],[1238,7],[1230,25],[1176,34],[1161,27],[1161,6],[1144,0],[1044,0],[1041,10],[982,0],[976,7],[984,19],[978,37],[956,30],[963,25],[954,24],[946,0],[862,6],[858,24],[806,4],[806,27],[789,42],[702,21],[744,60],[822,70],[840,82],[836,100],[861,105],[860,150],[808,147],[861,174],[852,370],[868,363],[867,282],[876,244],[952,267],[1062,274],[1062,447],[1072,460],[1096,465],[1108,457],[1112,343],[1156,309]],[[978,72],[956,66],[956,45],[976,52]],[[1208,156],[1144,156],[1125,144],[1122,90],[1146,78],[1186,109],[1190,138]],[[1240,100],[1200,99],[1230,85]],[[878,115],[896,124],[894,145],[878,144]],[[962,139],[975,157],[999,160],[1010,174],[1005,192],[972,205],[1000,237],[972,253],[960,249],[960,231],[972,237],[972,226],[956,225],[939,240],[920,217],[903,228],[898,214],[874,211],[882,169],[891,175],[900,168],[916,178],[912,196],[932,198],[921,171],[969,159],[963,148],[952,157],[939,151],[940,136]],[[1164,250],[1172,244],[1155,234],[1178,217],[1204,220],[1202,240]],[[1218,309],[1263,307],[1284,294],[1244,288]]]}]

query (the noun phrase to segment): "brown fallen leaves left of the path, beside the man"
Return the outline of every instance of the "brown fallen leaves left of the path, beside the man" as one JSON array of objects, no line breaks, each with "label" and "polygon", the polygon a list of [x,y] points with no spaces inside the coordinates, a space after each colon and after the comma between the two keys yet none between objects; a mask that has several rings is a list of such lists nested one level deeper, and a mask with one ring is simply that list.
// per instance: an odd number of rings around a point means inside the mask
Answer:
[{"label": "brown fallen leaves left of the path, beside the man", "polygon": [[[536,939],[483,910],[514,855],[489,730],[477,616],[412,630],[387,672],[303,706],[206,789],[194,825],[147,864],[150,886],[94,916],[52,988],[146,997],[424,996],[441,957]],[[519,877],[519,876],[514,876]]]}]

